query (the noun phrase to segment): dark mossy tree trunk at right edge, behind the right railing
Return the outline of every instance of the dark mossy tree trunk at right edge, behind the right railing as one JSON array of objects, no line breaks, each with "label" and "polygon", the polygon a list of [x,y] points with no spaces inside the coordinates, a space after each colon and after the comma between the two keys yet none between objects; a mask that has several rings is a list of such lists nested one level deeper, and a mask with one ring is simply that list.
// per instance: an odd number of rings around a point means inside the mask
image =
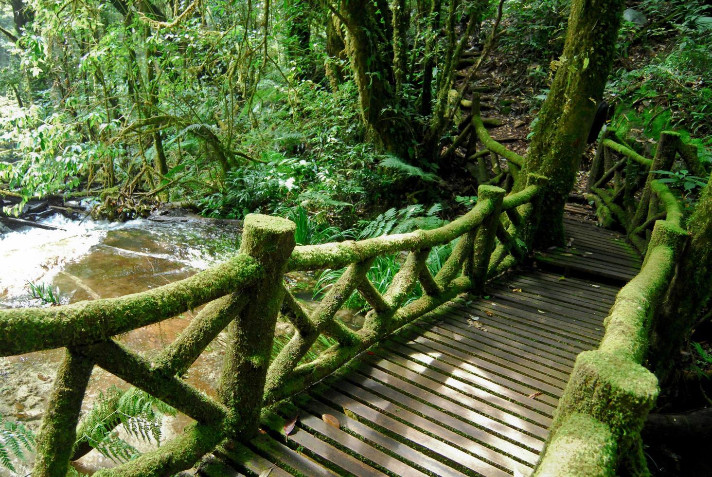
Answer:
[{"label": "dark mossy tree trunk at right edge, behind the right railing", "polygon": [[651,364],[661,380],[669,376],[679,349],[712,297],[712,175],[688,222],[690,239],[665,300],[654,319]]}]

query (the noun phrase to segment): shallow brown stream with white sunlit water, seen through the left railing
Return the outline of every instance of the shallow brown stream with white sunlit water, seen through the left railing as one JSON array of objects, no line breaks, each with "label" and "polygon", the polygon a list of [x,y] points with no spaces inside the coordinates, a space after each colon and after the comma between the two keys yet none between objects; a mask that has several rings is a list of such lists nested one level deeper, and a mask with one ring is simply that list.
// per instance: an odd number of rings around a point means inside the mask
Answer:
[{"label": "shallow brown stream with white sunlit water, seen through the left railing", "polygon": [[[184,279],[216,265],[239,249],[241,230],[235,222],[199,218],[172,220],[139,219],[125,223],[93,220],[69,220],[53,215],[41,222],[63,230],[21,227],[0,234],[0,309],[48,306],[33,297],[29,283],[51,287],[62,304],[97,297],[119,297],[142,292]],[[290,287],[305,307],[313,308],[310,275],[288,276]],[[172,342],[189,324],[197,310],[186,312],[157,324],[135,329],[119,337],[130,349],[150,356]],[[361,315],[343,310],[338,319],[348,326],[360,327]],[[293,334],[288,322],[278,322],[276,343],[284,343]],[[210,396],[216,396],[224,355],[224,332],[212,342],[189,369],[186,380]],[[325,349],[325,344],[319,352]],[[63,357],[63,349],[0,358],[0,414],[37,432],[51,394],[54,376]],[[128,384],[95,367],[83,412],[92,409],[99,393],[110,386],[126,389]],[[162,440],[179,434],[192,420],[178,414],[164,416]],[[120,426],[119,436],[139,451],[155,448],[154,442],[127,435]],[[31,471],[28,462],[14,460],[19,475]],[[91,451],[75,463],[81,473],[115,466],[115,461]],[[4,473],[5,472],[5,473]],[[13,475],[0,466],[0,476]]]}]

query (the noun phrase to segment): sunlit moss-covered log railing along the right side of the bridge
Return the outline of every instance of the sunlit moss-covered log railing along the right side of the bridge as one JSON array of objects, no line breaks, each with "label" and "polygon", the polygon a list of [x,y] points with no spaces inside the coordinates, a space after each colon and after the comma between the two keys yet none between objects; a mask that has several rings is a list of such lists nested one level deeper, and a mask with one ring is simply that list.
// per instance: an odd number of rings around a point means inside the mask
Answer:
[{"label": "sunlit moss-covered log railing along the right side of the bridge", "polygon": [[662,133],[652,160],[611,130],[600,143],[591,197],[600,218],[624,228],[645,259],[604,320],[600,347],[578,355],[533,476],[615,476],[621,466],[648,474],[640,431],[659,392],[656,376],[644,367],[651,319],[687,237],[681,205],[652,171],[670,170],[677,153],[701,172],[696,150],[676,133]]}]

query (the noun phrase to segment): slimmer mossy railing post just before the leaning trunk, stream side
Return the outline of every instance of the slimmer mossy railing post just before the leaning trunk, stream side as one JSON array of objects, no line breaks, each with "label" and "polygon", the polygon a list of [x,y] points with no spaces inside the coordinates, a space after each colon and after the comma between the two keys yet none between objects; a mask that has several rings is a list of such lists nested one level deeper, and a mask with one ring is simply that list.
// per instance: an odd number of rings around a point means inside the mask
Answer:
[{"label": "slimmer mossy railing post just before the leaning trunk, stream side", "polygon": [[[472,254],[472,279],[473,291],[482,292],[487,279],[487,267],[490,255],[494,250],[494,240],[499,226],[499,216],[502,213],[502,199],[506,195],[504,189],[493,185],[481,185],[477,188],[477,200],[490,200],[492,212],[482,221],[474,239]],[[462,240],[462,239],[461,239]]]}]

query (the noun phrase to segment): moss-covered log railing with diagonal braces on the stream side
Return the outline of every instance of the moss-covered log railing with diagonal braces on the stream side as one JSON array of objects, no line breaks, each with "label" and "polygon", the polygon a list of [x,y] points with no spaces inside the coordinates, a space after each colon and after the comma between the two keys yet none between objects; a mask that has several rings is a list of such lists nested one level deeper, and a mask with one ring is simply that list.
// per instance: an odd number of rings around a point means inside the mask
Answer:
[{"label": "moss-covered log railing with diagonal braces on the stream side", "polygon": [[[481,185],[475,207],[443,227],[358,242],[295,247],[293,222],[248,215],[239,255],[188,279],[115,299],[0,310],[0,356],[66,348],[38,434],[32,475],[66,474],[94,366],[194,419],[181,436],[156,451],[97,476],[172,475],[193,466],[224,439],[252,438],[264,406],[302,391],[457,294],[481,291],[488,277],[520,260],[545,183],[545,178],[530,175],[524,190],[509,195]],[[429,251],[456,239],[451,255],[432,276],[425,267]],[[381,294],[367,279],[367,270],[375,257],[397,252],[407,257]],[[313,312],[285,286],[286,272],[340,267],[345,272]],[[424,295],[407,302],[418,282]],[[353,292],[371,307],[358,331],[334,319]],[[182,334],[157,356],[140,356],[116,339],[201,305]],[[271,360],[279,314],[294,325],[295,334]],[[181,375],[226,328],[228,344],[214,399]],[[337,344],[300,364],[320,334]]]}]

